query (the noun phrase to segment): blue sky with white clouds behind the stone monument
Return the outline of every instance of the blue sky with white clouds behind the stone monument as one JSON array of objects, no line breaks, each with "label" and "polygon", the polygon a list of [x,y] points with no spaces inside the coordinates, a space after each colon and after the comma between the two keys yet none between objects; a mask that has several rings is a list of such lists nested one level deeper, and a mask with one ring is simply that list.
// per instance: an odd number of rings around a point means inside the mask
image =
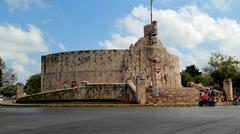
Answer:
[{"label": "blue sky with white clouds behind the stone monument", "polygon": [[[1,0],[0,57],[17,82],[40,73],[41,56],[127,49],[149,24],[150,0]],[[211,53],[240,58],[240,0],[154,0],[153,19],[180,68],[207,65]]]}]

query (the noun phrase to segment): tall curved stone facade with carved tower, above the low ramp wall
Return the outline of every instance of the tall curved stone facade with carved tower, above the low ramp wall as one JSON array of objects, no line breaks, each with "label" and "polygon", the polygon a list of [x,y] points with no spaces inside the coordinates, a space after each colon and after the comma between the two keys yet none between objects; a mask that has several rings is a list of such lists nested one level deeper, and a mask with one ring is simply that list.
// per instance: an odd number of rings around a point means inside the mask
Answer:
[{"label": "tall curved stone facade with carved tower, above the low ramp wall", "polygon": [[144,37],[128,50],[89,50],[42,56],[41,91],[63,88],[65,81],[132,83],[144,76],[146,87],[181,87],[178,57],[169,54],[157,39],[157,24],[144,27]]}]

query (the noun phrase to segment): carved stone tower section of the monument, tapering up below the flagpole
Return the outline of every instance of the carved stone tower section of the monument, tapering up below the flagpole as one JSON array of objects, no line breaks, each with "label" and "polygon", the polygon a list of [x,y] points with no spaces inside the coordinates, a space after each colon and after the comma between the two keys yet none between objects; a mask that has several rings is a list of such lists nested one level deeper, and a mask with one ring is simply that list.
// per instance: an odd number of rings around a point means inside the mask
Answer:
[{"label": "carved stone tower section of the monument, tapering up below the flagpole", "polygon": [[160,88],[181,87],[178,57],[169,54],[157,38],[157,22],[144,27],[144,37],[130,46],[129,54],[123,61],[125,80],[133,82],[137,76]]}]

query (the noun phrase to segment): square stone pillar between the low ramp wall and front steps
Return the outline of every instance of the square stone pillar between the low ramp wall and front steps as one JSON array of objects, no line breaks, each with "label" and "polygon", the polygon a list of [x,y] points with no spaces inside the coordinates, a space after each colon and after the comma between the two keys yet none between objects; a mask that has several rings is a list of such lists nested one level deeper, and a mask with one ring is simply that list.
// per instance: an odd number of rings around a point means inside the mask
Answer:
[{"label": "square stone pillar between the low ramp wall and front steps", "polygon": [[146,104],[146,88],[145,88],[145,77],[137,77],[137,101],[139,104]]}]

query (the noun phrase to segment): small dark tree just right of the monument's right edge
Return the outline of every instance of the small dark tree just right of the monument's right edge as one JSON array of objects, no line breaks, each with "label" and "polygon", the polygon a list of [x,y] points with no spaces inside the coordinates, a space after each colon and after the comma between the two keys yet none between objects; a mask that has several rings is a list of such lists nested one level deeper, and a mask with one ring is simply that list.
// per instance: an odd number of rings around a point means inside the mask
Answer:
[{"label": "small dark tree just right of the monument's right edge", "polygon": [[195,65],[187,66],[185,70],[181,72],[182,85],[187,86],[188,82],[199,83],[201,81],[202,72]]}]

